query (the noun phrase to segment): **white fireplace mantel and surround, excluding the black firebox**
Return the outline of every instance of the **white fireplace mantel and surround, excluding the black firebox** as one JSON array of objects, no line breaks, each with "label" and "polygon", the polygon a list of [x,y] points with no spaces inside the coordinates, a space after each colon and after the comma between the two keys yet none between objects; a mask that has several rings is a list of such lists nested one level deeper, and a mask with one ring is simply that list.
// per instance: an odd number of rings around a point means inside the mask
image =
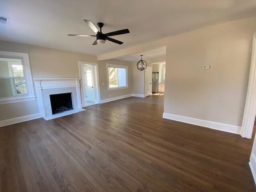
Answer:
[{"label": "white fireplace mantel and surround, excluding the black firebox", "polygon": [[[40,113],[44,113],[45,119],[51,119],[52,115],[50,110],[50,94],[60,94],[72,92],[74,112],[78,112],[82,108],[81,92],[80,92],[81,78],[35,78],[35,88],[38,97],[38,106]],[[74,113],[70,111],[70,114]],[[67,113],[65,113],[67,114]],[[61,116],[58,114],[56,117]],[[55,118],[55,117],[53,117]]]}]

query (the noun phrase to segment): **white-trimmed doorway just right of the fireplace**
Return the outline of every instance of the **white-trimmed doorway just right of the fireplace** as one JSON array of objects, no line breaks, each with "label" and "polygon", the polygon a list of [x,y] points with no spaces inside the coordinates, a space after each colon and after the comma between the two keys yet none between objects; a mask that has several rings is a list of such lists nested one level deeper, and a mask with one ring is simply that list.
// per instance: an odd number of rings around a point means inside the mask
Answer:
[{"label": "white-trimmed doorway just right of the fireplace", "polygon": [[81,80],[82,107],[100,103],[98,64],[78,62]]}]

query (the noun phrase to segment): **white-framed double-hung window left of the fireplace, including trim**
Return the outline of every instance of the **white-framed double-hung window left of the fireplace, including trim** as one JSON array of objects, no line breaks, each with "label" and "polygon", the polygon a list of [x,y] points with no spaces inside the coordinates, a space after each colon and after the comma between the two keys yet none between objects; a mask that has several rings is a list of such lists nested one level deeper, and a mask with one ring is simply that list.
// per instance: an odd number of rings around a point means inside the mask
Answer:
[{"label": "white-framed double-hung window left of the fireplace, including trim", "polygon": [[0,104],[35,100],[28,54],[0,51]]}]

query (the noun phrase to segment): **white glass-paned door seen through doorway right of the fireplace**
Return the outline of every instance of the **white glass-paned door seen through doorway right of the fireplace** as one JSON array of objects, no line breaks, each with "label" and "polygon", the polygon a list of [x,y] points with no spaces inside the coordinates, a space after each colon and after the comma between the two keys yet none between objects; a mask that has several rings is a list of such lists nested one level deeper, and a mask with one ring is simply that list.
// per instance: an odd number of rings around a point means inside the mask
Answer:
[{"label": "white glass-paned door seen through doorway right of the fireplace", "polygon": [[84,67],[86,100],[95,102],[94,77],[92,66]]}]

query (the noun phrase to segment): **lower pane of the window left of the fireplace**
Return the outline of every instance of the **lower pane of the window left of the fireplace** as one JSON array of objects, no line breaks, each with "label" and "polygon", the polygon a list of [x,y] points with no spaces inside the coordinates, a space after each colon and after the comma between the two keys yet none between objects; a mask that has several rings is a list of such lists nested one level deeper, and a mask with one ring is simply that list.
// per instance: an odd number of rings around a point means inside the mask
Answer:
[{"label": "lower pane of the window left of the fireplace", "polygon": [[0,98],[27,94],[25,79],[0,79]]}]

